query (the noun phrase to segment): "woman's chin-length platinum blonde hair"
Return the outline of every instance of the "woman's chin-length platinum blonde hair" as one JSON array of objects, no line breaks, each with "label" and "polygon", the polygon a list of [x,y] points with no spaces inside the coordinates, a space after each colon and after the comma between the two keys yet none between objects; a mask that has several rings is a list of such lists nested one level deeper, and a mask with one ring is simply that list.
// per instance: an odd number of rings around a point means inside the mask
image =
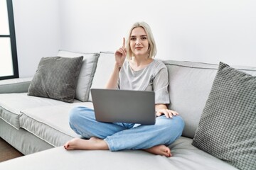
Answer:
[{"label": "woman's chin-length platinum blonde hair", "polygon": [[130,60],[131,57],[133,56],[133,53],[132,53],[132,50],[131,50],[131,47],[130,47],[130,44],[129,44],[129,40],[130,40],[132,30],[134,28],[137,28],[137,27],[142,27],[145,30],[148,41],[149,41],[149,49],[148,49],[149,58],[154,58],[156,56],[157,51],[156,51],[156,42],[154,41],[154,36],[152,34],[151,28],[145,22],[137,22],[137,23],[134,23],[132,25],[132,28],[129,30],[129,33],[128,33],[127,42],[126,42],[126,45],[127,45],[127,59]]}]

